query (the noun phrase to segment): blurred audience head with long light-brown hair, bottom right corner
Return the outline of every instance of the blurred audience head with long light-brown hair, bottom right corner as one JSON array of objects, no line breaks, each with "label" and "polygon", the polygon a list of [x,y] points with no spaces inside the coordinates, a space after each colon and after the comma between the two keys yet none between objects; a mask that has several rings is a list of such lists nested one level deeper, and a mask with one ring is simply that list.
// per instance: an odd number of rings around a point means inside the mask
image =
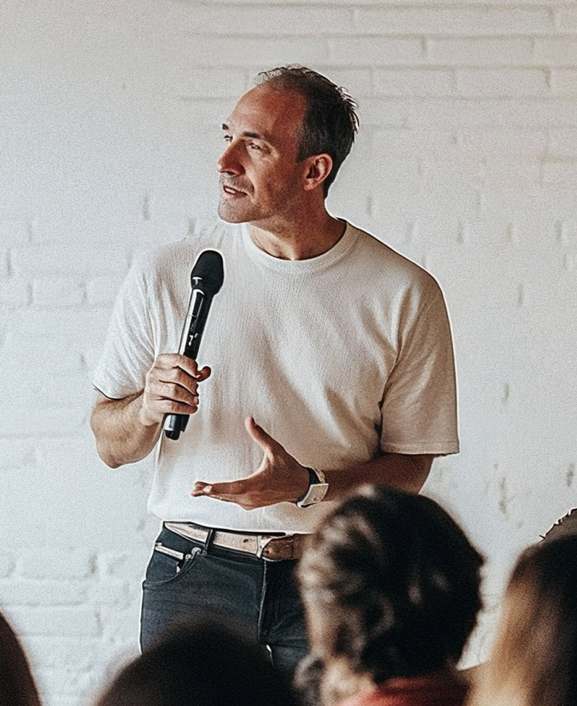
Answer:
[{"label": "blurred audience head with long light-brown hair, bottom right corner", "polygon": [[473,700],[499,706],[577,703],[576,534],[530,546],[518,558]]}]

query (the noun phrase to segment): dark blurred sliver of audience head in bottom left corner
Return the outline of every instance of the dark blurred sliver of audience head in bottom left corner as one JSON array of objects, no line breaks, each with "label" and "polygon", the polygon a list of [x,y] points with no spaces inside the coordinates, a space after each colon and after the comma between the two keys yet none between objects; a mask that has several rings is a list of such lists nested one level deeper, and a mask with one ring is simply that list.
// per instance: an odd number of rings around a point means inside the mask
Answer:
[{"label": "dark blurred sliver of audience head in bottom left corner", "polygon": [[40,706],[28,659],[12,628],[0,614],[0,705]]}]

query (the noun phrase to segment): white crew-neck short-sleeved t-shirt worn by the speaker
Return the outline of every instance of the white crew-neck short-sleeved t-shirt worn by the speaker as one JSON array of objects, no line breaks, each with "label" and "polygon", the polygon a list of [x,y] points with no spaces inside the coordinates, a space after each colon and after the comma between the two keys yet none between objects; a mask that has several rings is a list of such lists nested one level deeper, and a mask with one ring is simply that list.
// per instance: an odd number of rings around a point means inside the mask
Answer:
[{"label": "white crew-neck short-sleeved t-shirt worn by the speaker", "polygon": [[352,225],[328,252],[286,261],[245,225],[219,223],[142,256],[114,307],[95,388],[142,390],[154,357],[178,351],[190,270],[205,249],[224,258],[198,362],[198,412],[157,445],[148,507],[162,520],[253,532],[310,532],[331,508],[278,503],[243,510],[192,498],[196,480],[245,477],[262,450],[244,419],[305,466],[346,469],[379,452],[458,451],[451,332],[437,282]]}]

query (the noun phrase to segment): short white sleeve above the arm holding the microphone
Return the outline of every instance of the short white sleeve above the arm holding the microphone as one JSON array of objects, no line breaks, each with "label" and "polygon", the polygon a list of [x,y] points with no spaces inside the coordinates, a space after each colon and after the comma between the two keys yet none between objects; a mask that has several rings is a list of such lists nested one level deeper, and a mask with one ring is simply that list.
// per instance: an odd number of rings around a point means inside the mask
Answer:
[{"label": "short white sleeve above the arm holding the microphone", "polygon": [[128,273],[114,304],[102,357],[92,376],[97,390],[111,399],[140,392],[154,362],[154,339],[147,287],[137,264]]}]

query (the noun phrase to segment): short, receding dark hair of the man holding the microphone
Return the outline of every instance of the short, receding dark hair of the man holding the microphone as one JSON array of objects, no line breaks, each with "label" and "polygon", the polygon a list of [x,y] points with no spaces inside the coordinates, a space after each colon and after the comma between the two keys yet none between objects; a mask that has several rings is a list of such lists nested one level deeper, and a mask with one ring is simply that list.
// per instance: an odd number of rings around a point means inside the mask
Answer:
[{"label": "short, receding dark hair of the man holding the microphone", "polygon": [[257,76],[257,85],[262,84],[304,98],[307,109],[300,128],[297,160],[323,153],[332,157],[332,170],[322,184],[326,197],[358,131],[356,102],[346,89],[305,66],[279,66],[262,71]]}]

